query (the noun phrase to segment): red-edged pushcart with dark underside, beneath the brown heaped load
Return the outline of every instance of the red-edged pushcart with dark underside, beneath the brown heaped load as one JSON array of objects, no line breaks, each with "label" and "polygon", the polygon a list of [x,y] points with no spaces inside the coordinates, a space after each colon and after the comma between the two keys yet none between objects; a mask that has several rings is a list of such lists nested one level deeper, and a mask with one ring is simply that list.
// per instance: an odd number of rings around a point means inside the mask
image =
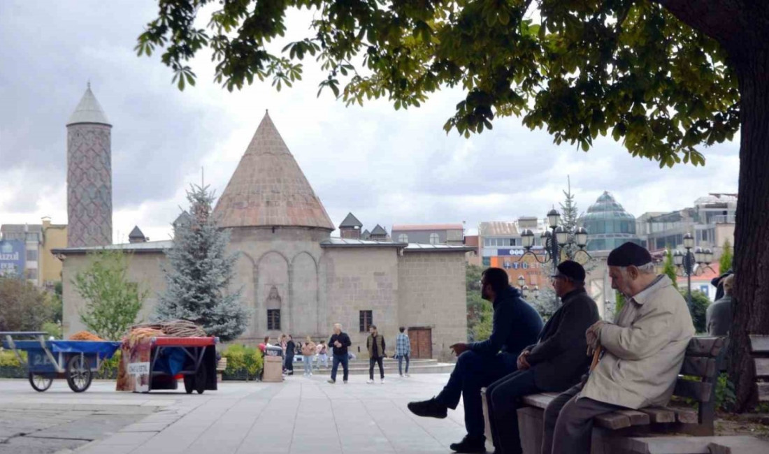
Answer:
[{"label": "red-edged pushcart with dark underside, beneath the brown heaped load", "polygon": [[[137,390],[176,389],[184,379],[185,391],[216,390],[216,344],[218,337],[153,337],[149,342],[149,363],[128,363],[128,373],[148,376]],[[146,383],[146,387],[141,386]]]}]

